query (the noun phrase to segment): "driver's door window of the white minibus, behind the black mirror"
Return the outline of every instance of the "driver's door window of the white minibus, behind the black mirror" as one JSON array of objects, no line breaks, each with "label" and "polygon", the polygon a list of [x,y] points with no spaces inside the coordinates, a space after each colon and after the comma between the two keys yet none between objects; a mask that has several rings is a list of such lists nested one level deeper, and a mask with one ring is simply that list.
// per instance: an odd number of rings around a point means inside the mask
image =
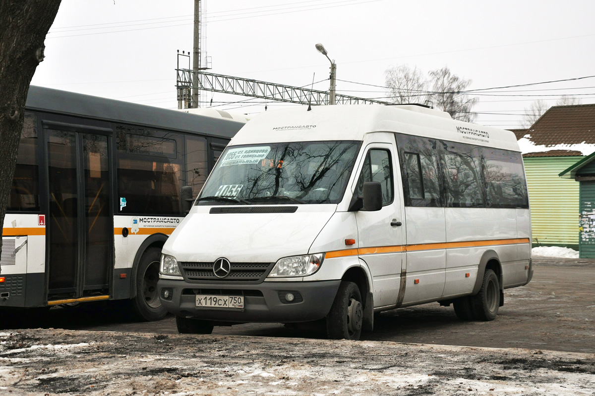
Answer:
[{"label": "driver's door window of the white minibus, behind the black mirror", "polygon": [[382,205],[386,206],[393,202],[393,166],[388,150],[372,148],[366,154],[364,167],[358,179],[357,194],[364,194],[365,182],[379,182],[382,186]]}]

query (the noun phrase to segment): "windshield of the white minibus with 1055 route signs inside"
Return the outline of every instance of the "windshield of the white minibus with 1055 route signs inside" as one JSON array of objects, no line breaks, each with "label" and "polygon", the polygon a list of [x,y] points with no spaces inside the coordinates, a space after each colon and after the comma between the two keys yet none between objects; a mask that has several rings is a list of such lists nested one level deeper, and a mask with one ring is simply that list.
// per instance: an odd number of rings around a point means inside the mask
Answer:
[{"label": "windshield of the white minibus with 1055 route signs inside", "polygon": [[196,205],[337,204],[360,145],[322,141],[227,147]]}]

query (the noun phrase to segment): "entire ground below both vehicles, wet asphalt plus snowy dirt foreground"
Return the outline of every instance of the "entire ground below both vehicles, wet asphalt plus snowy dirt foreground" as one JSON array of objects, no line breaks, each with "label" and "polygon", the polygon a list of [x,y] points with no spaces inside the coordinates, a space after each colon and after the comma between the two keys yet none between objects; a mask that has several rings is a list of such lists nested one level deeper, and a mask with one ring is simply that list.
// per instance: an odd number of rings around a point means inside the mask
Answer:
[{"label": "entire ground below both vehicles, wet asphalt plus snowy dirt foreground", "polygon": [[594,291],[595,262],[539,259],[492,322],[434,303],[378,315],[362,341],[279,324],[179,335],[106,303],[6,311],[0,395],[593,396]]}]

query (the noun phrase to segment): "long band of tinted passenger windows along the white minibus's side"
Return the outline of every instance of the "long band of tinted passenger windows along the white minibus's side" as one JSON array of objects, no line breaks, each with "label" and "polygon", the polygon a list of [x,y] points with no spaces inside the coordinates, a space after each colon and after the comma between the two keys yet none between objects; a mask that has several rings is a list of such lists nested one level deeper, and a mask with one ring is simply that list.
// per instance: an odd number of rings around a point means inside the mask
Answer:
[{"label": "long band of tinted passenger windows along the white minibus's side", "polygon": [[395,135],[406,206],[529,207],[521,153]]}]

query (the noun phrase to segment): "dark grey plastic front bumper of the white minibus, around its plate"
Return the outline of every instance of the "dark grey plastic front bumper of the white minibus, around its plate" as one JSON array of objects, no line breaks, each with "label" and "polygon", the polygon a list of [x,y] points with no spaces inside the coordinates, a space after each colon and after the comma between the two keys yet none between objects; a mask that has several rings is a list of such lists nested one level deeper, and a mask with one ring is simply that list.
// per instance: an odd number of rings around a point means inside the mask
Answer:
[{"label": "dark grey plastic front bumper of the white minibus, around its plate", "polygon": [[[316,321],[327,316],[340,283],[340,280],[330,280],[228,285],[159,279],[157,288],[161,304],[174,315],[219,322],[291,323]],[[170,290],[170,299],[163,297],[164,289]],[[211,292],[196,293],[198,289]],[[215,294],[212,290],[222,295],[244,295],[244,310],[196,308],[196,294]],[[281,302],[280,294],[286,292],[299,293],[302,301]]]}]

